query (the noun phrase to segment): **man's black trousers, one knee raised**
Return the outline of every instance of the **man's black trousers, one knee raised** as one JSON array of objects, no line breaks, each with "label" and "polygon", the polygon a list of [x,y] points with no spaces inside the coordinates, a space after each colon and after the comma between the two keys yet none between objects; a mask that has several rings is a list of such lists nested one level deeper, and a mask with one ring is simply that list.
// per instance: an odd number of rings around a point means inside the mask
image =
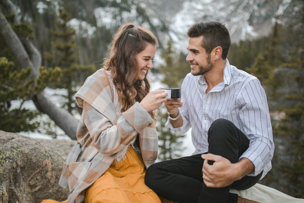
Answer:
[{"label": "man's black trousers, one knee raised", "polygon": [[[231,121],[218,119],[208,131],[208,153],[223,156],[231,163],[249,147],[248,138]],[[230,193],[230,188],[245,190],[260,179],[245,176],[233,184],[222,188],[207,187],[202,178],[204,159],[201,154],[154,163],[145,175],[145,183],[158,195],[178,203],[190,202],[231,202],[236,203],[238,195]],[[210,163],[209,163],[210,164]]]}]

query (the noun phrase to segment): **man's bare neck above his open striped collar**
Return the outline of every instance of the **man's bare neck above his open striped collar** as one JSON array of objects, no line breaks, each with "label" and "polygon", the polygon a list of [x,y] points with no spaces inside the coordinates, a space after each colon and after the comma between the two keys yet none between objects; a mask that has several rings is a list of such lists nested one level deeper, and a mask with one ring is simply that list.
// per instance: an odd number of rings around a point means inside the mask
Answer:
[{"label": "man's bare neck above his open striped collar", "polygon": [[224,81],[224,68],[226,60],[214,61],[213,68],[205,73],[206,83],[208,88],[206,89],[206,94],[217,84]]}]

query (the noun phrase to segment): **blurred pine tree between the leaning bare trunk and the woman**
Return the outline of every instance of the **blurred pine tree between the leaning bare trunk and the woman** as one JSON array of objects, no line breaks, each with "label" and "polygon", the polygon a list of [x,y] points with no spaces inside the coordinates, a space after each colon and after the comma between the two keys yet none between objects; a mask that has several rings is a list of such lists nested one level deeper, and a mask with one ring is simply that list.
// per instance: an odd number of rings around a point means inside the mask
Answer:
[{"label": "blurred pine tree between the leaning bare trunk and the woman", "polygon": [[[57,88],[67,89],[67,95],[64,107],[72,113],[72,110],[77,107],[74,94],[77,92],[77,86],[81,86],[86,76],[93,73],[90,66],[81,66],[78,64],[78,55],[75,53],[75,30],[68,26],[71,20],[71,15],[59,9],[58,21],[56,22],[57,30],[50,30],[50,34],[55,37],[52,42],[54,53],[45,53],[44,56],[51,65],[59,66],[62,69],[62,78],[55,85]],[[77,108],[77,110],[79,110]]]}]

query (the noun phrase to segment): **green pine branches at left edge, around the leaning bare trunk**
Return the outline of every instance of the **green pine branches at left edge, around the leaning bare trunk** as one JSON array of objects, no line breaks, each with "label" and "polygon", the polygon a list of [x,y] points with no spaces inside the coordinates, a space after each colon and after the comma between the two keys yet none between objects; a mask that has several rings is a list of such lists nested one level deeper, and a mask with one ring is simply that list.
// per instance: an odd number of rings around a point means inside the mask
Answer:
[{"label": "green pine branches at left edge, around the leaning bare trunk", "polygon": [[[15,15],[6,16],[12,29],[20,40],[33,39],[33,29],[28,24],[14,23]],[[39,77],[30,79],[32,67],[26,70],[16,65],[17,60],[6,42],[0,38],[0,129],[9,132],[36,131],[40,127],[37,117],[41,113],[23,107],[26,101],[43,91],[50,83],[61,76],[60,68],[39,68]],[[14,100],[20,102],[18,107],[12,106]],[[15,102],[18,103],[18,102]]]}]

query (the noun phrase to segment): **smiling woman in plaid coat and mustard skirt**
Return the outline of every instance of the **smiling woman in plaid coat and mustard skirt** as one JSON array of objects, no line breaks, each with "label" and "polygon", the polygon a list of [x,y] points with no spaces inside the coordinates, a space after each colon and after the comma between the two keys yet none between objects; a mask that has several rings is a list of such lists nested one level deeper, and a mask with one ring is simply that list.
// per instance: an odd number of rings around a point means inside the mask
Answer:
[{"label": "smiling woman in plaid coat and mustard skirt", "polygon": [[146,168],[157,158],[154,110],[168,95],[162,89],[149,93],[147,73],[157,47],[150,30],[124,24],[111,42],[104,69],[76,93],[83,108],[78,143],[59,180],[71,191],[67,202],[161,202],[144,184]]}]

